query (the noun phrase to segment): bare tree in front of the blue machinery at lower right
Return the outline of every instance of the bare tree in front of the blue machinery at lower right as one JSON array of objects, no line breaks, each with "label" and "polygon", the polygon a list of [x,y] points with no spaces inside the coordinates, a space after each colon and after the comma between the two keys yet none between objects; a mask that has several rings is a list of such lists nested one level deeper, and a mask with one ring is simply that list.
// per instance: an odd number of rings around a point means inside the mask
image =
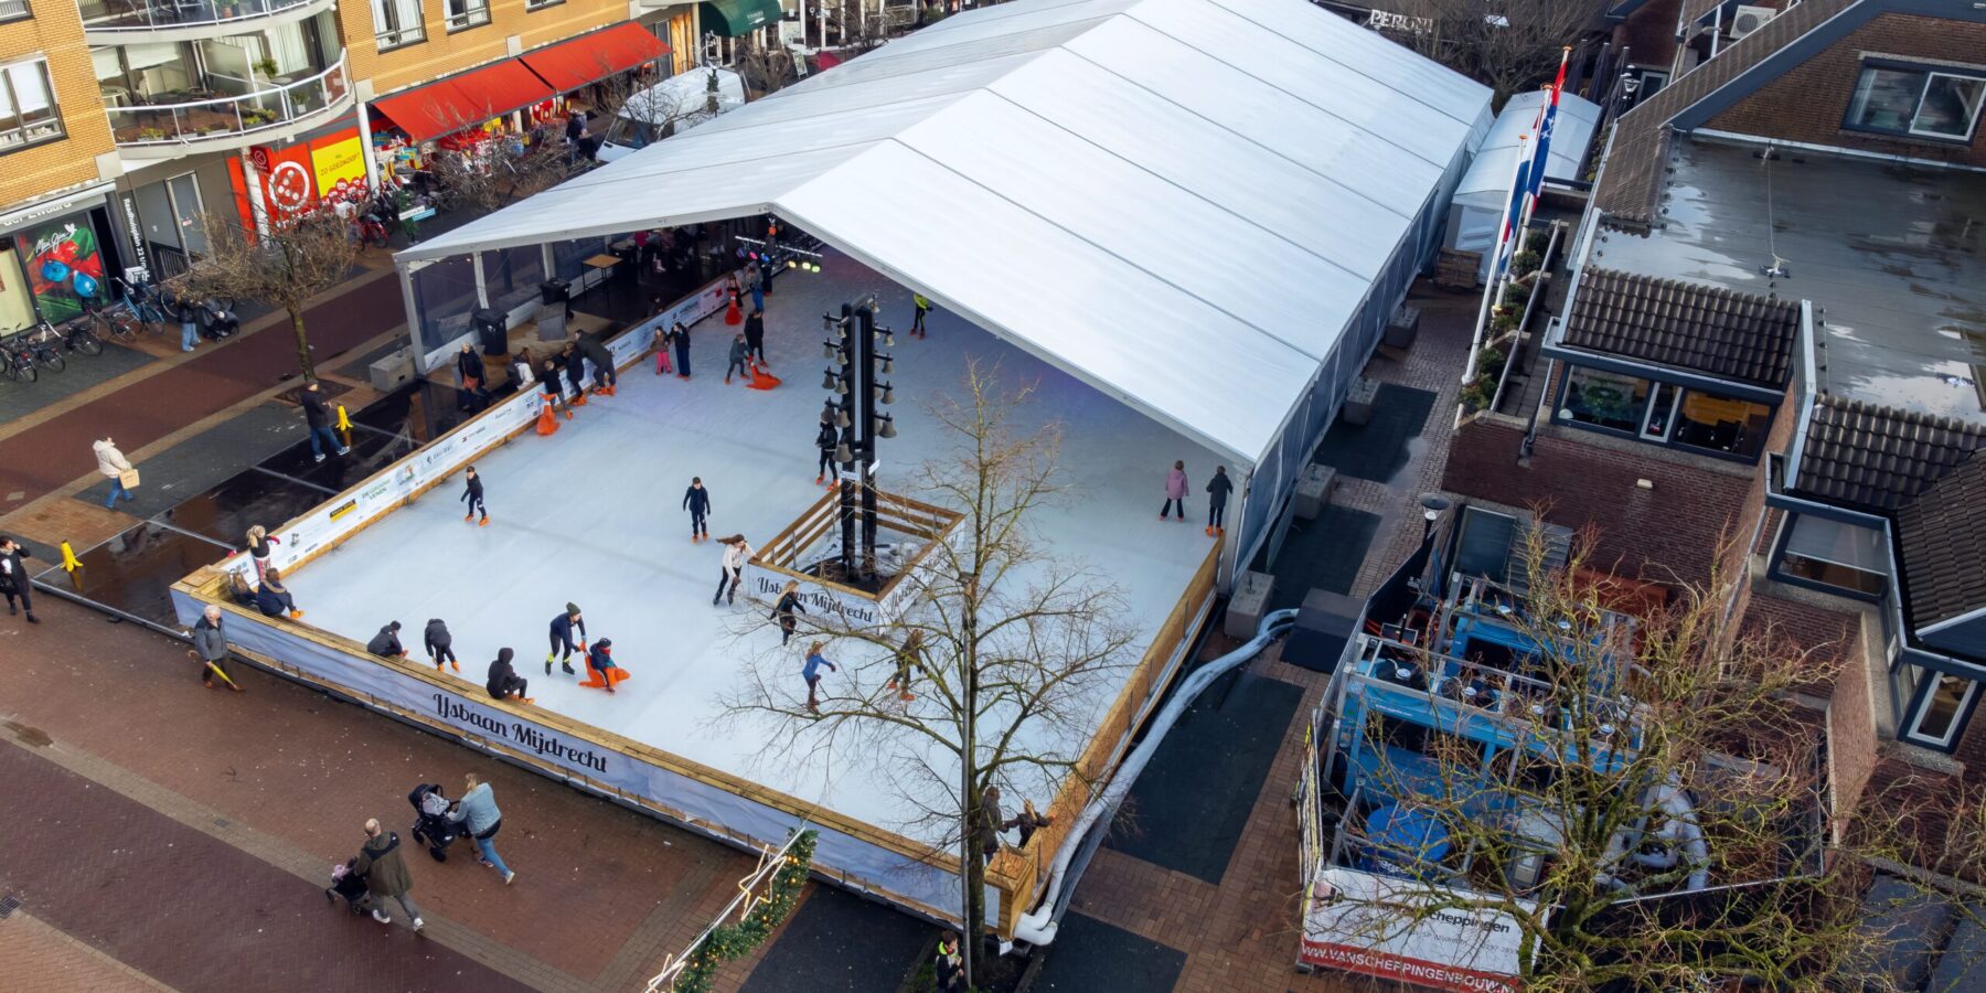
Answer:
[{"label": "bare tree in front of the blue machinery at lower right", "polygon": [[[1347,703],[1362,717],[1345,729],[1368,763],[1366,800],[1345,812],[1341,852],[1390,850],[1406,868],[1337,927],[1378,943],[1430,918],[1503,922],[1525,989],[1875,977],[1885,937],[1859,927],[1865,862],[1829,830],[1823,723],[1795,701],[1833,663],[1732,634],[1722,578],[1652,616],[1615,614],[1607,604],[1629,598],[1593,578],[1591,548],[1585,534],[1547,568],[1539,530],[1525,594],[1497,594],[1499,620],[1537,645],[1519,671],[1368,643],[1378,681],[1348,683],[1347,699],[1370,703]],[[1394,705],[1430,721],[1404,727]],[[1499,743],[1488,761],[1486,741]],[[1388,848],[1364,830],[1378,794],[1424,812],[1446,842]]]}]

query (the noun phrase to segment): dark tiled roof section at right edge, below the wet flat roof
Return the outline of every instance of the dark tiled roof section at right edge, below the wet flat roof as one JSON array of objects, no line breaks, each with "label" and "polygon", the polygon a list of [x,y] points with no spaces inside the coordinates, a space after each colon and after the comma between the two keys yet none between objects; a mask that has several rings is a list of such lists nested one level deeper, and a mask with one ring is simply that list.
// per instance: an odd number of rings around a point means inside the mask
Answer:
[{"label": "dark tiled roof section at right edge, below the wet flat roof", "polygon": [[1829,502],[1899,510],[1980,447],[1986,427],[1821,393],[1793,489]]}]

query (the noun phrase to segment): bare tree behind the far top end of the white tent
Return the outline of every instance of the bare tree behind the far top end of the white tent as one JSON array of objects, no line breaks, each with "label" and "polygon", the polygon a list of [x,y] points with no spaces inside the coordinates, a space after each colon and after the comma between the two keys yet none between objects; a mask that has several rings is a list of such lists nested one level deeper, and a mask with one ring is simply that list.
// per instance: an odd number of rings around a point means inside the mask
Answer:
[{"label": "bare tree behind the far top end of the white tent", "polygon": [[[1549,81],[1559,52],[1605,12],[1605,0],[1390,0],[1372,24],[1414,52],[1511,93]],[[1378,16],[1376,16],[1378,18]]]}]

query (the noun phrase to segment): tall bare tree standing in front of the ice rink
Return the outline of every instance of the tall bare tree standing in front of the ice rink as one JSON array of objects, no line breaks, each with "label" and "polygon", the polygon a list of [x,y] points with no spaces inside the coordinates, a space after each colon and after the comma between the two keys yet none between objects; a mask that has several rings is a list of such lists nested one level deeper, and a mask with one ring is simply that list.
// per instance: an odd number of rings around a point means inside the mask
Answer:
[{"label": "tall bare tree standing in front of the ice rink", "polygon": [[[1051,556],[1029,522],[1066,496],[1061,425],[1019,431],[1033,387],[1005,391],[997,367],[969,363],[963,385],[963,399],[931,405],[951,453],[906,481],[963,514],[902,580],[914,604],[876,626],[832,612],[802,620],[794,647],[822,641],[842,665],[818,711],[784,649],[755,655],[721,703],[727,723],[763,735],[765,761],[864,759],[864,775],[914,810],[906,828],[959,846],[965,920],[977,922],[985,862],[1009,824],[991,790],[1053,796],[1080,775],[1092,709],[1128,667],[1134,634],[1120,592]],[[963,941],[967,969],[977,951]]]}]

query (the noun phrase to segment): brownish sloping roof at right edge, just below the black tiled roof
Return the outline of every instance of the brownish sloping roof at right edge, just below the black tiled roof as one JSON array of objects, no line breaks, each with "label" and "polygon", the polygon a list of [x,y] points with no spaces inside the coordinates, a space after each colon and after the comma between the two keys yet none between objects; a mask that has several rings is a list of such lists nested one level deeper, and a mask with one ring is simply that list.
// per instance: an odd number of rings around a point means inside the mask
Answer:
[{"label": "brownish sloping roof at right edge, just below the black tiled roof", "polygon": [[1970,457],[1897,512],[1916,628],[1986,608],[1986,459]]}]

